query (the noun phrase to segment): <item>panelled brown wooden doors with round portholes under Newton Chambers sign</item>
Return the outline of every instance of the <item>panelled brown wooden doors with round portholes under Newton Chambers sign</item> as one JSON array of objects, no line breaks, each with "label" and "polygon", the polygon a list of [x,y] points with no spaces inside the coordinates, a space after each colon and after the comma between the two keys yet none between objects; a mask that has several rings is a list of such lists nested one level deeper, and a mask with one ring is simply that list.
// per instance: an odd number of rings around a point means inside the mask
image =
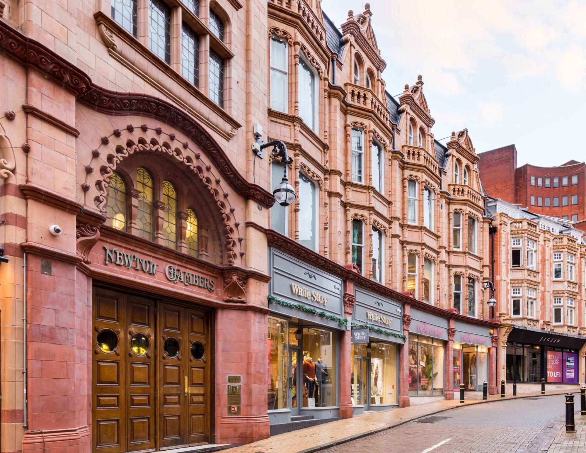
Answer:
[{"label": "panelled brown wooden doors with round portholes under Newton Chambers sign", "polygon": [[189,305],[93,289],[93,451],[210,441],[210,316]]}]

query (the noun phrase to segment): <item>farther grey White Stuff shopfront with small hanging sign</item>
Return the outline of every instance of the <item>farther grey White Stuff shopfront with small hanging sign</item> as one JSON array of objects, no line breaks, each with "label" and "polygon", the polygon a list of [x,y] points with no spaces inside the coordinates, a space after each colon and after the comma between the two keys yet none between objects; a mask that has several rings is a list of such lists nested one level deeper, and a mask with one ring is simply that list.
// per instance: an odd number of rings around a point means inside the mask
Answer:
[{"label": "farther grey White Stuff shopfront with small hanging sign", "polygon": [[355,296],[352,328],[366,336],[352,335],[350,395],[357,415],[397,406],[398,353],[405,337],[403,305],[357,287]]}]

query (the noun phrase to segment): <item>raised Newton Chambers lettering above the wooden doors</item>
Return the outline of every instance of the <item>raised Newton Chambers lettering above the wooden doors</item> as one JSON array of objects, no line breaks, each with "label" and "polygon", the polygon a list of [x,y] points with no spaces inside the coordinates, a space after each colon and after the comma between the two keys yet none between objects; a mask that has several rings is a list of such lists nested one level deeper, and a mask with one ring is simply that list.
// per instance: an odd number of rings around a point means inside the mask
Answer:
[{"label": "raised Newton Chambers lettering above the wooden doors", "polygon": [[[157,264],[150,259],[141,258],[136,253],[122,252],[116,247],[110,249],[107,245],[104,245],[104,250],[104,264],[106,266],[108,263],[111,263],[115,266],[120,266],[129,270],[133,269],[134,271],[156,275]],[[199,288],[205,288],[209,292],[216,289],[216,284],[213,279],[206,278],[193,272],[183,271],[173,264],[166,265],[163,273],[165,273],[167,280],[173,283],[183,283],[183,285],[186,286],[197,286]]]}]

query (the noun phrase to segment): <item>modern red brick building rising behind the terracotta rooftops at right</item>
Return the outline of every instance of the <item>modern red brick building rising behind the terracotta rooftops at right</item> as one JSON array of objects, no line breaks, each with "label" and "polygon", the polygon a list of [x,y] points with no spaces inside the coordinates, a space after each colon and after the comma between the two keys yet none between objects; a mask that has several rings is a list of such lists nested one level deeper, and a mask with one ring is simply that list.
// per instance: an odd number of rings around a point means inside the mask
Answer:
[{"label": "modern red brick building rising behind the terracotta rooftops at right", "polygon": [[571,160],[556,167],[517,168],[514,144],[478,154],[482,185],[489,197],[529,207],[549,217],[580,222],[586,218],[586,164]]}]

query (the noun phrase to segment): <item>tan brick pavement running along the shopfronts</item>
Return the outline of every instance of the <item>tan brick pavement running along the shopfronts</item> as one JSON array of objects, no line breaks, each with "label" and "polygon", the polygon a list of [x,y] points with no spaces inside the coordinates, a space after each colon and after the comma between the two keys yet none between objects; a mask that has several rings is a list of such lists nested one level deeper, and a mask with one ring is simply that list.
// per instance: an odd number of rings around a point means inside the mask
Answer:
[{"label": "tan brick pavement running along the shopfronts", "polygon": [[[576,388],[576,391],[578,391],[578,388]],[[548,393],[548,395],[555,394],[561,395],[563,393]],[[427,415],[442,413],[452,408],[466,407],[469,405],[482,404],[490,401],[507,401],[540,396],[540,393],[523,394],[517,397],[508,396],[505,398],[500,398],[499,395],[490,395],[488,401],[469,398],[464,404],[459,403],[459,401],[456,399],[451,401],[439,401],[437,403],[421,404],[405,408],[396,408],[389,411],[363,414],[359,415],[358,417],[353,417],[346,420],[339,420],[316,427],[305,428],[302,431],[287,432],[285,434],[276,435],[262,441],[242,445],[241,447],[231,448],[226,451],[234,453],[309,453],[335,446],[336,448],[334,451],[338,452],[342,451],[341,444],[345,444],[346,442],[366,437],[368,435],[377,434],[379,432],[389,430],[389,428],[403,425],[407,422],[425,417]],[[416,431],[414,433],[415,435],[418,435],[418,432],[425,430],[425,428],[422,428],[421,425],[424,424],[417,424],[417,427],[414,428]],[[535,427],[535,430],[537,430],[537,427]],[[495,431],[497,431],[496,427]],[[488,436],[490,436],[490,434],[488,434]],[[489,438],[490,437],[488,437],[488,439]],[[462,445],[460,447],[464,448]],[[389,445],[384,445],[383,448],[384,449],[380,451],[400,451],[389,449]],[[355,449],[356,448],[353,448],[352,451],[355,451]],[[439,451],[440,450],[437,450],[438,453]],[[460,449],[459,451],[466,450]],[[494,451],[495,449],[490,449],[491,453]],[[503,449],[502,451],[517,450]]]}]

